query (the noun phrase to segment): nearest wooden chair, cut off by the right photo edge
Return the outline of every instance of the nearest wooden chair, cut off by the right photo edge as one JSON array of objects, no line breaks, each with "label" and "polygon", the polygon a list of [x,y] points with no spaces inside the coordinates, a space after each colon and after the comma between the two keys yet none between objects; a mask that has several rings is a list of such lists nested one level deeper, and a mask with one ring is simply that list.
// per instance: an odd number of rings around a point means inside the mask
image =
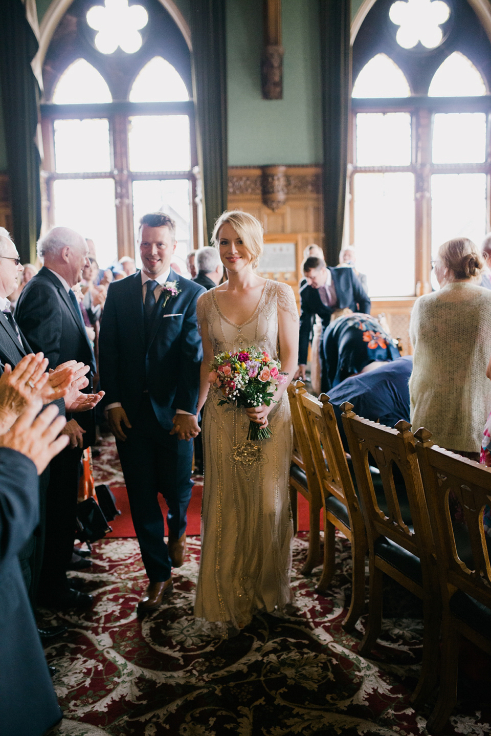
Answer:
[{"label": "nearest wooden chair, cut off by the right photo edge", "polygon": [[[438,733],[456,702],[461,634],[491,654],[490,540],[482,523],[484,506],[491,506],[491,469],[434,445],[426,429],[418,429],[415,436],[442,590],[440,691],[426,724],[429,732]],[[451,492],[465,516],[472,553],[467,561],[448,508]]]}]

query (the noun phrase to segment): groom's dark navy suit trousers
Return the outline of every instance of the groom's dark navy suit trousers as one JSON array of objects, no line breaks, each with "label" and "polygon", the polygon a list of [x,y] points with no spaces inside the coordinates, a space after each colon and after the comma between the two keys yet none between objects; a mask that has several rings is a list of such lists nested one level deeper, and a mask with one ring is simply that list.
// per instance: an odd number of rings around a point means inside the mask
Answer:
[{"label": "groom's dark navy suit trousers", "polygon": [[158,494],[168,505],[169,532],[179,539],[186,531],[193,481],[193,441],[177,439],[162,428],[148,393],[143,394],[126,440],[116,442],[128,492],[133,526],[151,582],[168,580],[171,559],[164,542],[164,519]]}]

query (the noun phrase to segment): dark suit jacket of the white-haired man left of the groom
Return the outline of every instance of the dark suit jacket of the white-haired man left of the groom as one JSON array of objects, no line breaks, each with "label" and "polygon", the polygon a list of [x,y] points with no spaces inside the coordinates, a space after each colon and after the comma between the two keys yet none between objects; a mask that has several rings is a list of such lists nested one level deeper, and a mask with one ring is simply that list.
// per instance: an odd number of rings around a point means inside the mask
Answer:
[{"label": "dark suit jacket of the white-haired man left of the groom", "polygon": [[[31,283],[32,282],[32,283]],[[96,372],[96,358],[90,345],[85,326],[68,297],[60,279],[44,266],[21,291],[15,307],[15,319],[24,333],[32,352],[43,352],[49,367],[56,368],[65,361],[82,361],[90,366],[90,374]],[[87,392],[92,390],[91,375]],[[70,420],[71,414],[67,414]],[[85,429],[84,447],[95,440],[95,412],[81,411],[74,414]]]}]

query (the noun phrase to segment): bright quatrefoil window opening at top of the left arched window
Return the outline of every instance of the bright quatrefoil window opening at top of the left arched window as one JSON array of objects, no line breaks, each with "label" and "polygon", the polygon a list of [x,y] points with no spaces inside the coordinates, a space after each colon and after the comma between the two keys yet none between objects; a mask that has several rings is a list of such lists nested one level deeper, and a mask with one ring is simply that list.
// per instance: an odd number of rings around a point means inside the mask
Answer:
[{"label": "bright quatrefoil window opening at top of the left arched window", "polygon": [[90,28],[98,31],[94,43],[101,54],[113,54],[118,46],[126,54],[135,54],[140,49],[139,31],[148,23],[143,6],[129,6],[128,0],[104,0],[104,7],[94,5],[86,17]]}]

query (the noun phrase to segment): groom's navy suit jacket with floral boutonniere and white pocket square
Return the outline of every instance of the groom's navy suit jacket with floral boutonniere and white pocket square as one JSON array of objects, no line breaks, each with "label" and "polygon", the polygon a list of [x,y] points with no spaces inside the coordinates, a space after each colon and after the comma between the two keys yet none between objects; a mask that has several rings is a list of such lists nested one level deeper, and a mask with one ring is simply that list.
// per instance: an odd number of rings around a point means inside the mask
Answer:
[{"label": "groom's navy suit jacket with floral boutonniere and white pocket square", "polygon": [[196,414],[203,351],[196,319],[202,286],[171,269],[179,294],[160,294],[145,342],[140,272],[110,285],[99,334],[99,372],[107,404],[120,402],[130,422],[148,390],[157,419],[172,428],[176,409]]}]

